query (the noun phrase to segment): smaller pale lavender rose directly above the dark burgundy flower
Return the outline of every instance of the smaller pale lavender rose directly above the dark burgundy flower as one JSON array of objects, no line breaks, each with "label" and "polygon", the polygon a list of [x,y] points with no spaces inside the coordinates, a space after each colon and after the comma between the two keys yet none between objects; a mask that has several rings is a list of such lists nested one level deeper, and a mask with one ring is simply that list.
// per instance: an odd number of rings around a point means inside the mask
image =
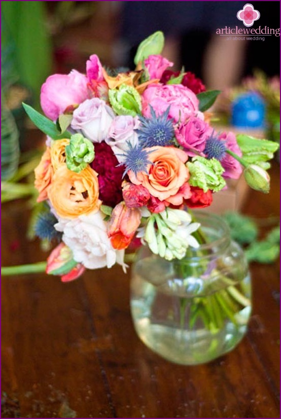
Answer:
[{"label": "smaller pale lavender rose directly above the dark burgundy flower", "polygon": [[131,115],[121,115],[114,118],[111,123],[106,143],[112,148],[119,163],[124,162],[124,152],[128,149],[128,143],[132,146],[138,144],[137,133],[139,119]]}]

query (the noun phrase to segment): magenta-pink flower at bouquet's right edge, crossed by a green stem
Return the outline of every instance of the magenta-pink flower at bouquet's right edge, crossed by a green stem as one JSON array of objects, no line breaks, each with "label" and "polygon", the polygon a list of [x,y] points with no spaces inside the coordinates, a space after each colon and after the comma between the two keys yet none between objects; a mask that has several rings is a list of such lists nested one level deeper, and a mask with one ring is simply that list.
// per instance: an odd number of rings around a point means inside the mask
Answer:
[{"label": "magenta-pink flower at bouquet's right edge, crossed by a green stem", "polygon": [[[236,137],[233,132],[222,132],[219,134],[219,138],[225,143],[225,147],[233,153],[237,154],[239,157],[242,156],[241,150],[236,142]],[[242,173],[242,168],[240,163],[230,156],[228,153],[225,153],[224,158],[221,160],[221,164],[225,169],[223,173],[224,178],[238,179]]]}]

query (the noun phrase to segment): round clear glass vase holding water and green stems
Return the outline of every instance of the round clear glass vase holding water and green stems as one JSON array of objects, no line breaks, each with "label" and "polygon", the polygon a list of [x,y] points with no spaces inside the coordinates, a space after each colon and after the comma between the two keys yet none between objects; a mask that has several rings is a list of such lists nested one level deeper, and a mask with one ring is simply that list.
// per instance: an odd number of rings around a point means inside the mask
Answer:
[{"label": "round clear glass vase holding water and green stems", "polygon": [[231,351],[247,331],[251,280],[227,224],[195,212],[206,244],[167,261],[146,246],[132,266],[131,313],[136,333],[154,352],[183,365]]}]

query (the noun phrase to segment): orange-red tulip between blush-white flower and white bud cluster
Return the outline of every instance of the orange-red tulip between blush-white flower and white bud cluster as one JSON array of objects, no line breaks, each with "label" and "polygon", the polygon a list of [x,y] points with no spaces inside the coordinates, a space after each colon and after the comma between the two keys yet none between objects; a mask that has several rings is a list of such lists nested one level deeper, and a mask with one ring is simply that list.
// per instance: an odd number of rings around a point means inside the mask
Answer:
[{"label": "orange-red tulip between blush-white flower and white bud cluster", "polygon": [[114,249],[126,249],[134,233],[141,224],[141,212],[137,208],[128,208],[125,202],[119,202],[113,209],[109,222],[108,236]]}]

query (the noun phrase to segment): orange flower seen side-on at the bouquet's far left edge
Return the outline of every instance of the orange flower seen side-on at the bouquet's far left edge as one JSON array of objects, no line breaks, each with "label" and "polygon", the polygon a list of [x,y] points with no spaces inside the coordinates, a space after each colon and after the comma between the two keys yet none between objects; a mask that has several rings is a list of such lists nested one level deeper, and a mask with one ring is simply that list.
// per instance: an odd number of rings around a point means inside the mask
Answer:
[{"label": "orange flower seen side-on at the bouquet's far left edge", "polygon": [[47,188],[49,187],[52,181],[53,172],[54,171],[51,165],[50,148],[47,147],[39,165],[36,167],[36,169],[34,169],[34,186],[39,191],[39,197],[37,198],[37,202],[44,201],[48,198]]}]

